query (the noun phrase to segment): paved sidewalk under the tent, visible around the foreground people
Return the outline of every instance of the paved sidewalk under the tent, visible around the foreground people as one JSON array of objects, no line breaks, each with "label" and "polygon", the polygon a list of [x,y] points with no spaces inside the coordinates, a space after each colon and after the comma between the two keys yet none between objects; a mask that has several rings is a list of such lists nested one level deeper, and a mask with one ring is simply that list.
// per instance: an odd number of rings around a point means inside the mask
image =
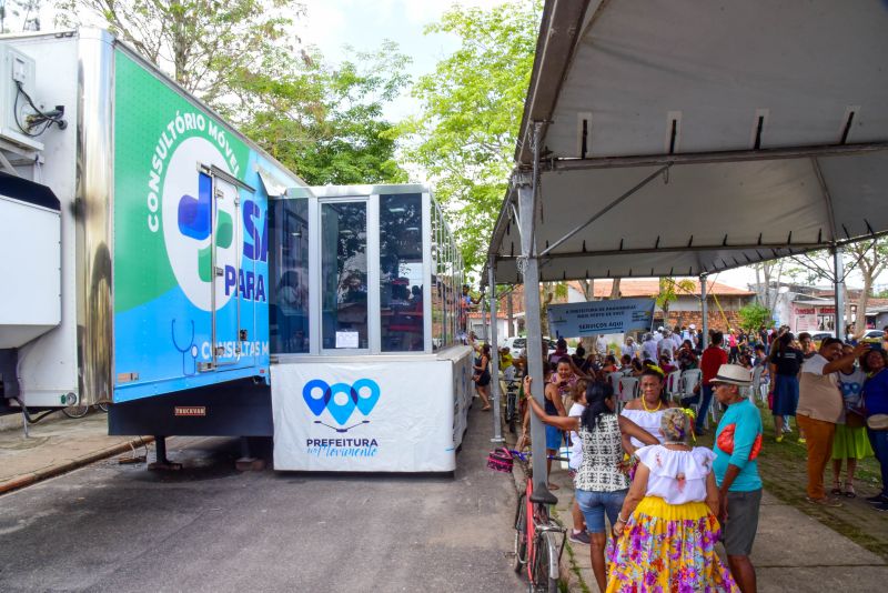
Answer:
[{"label": "paved sidewalk under the tent, visible around the foreground people", "polygon": [[[555,516],[572,526],[574,489],[565,470],[553,463],[552,482],[561,489]],[[521,465],[514,473],[518,492],[525,476]],[[569,550],[568,550],[569,549]],[[888,562],[816,519],[765,492],[753,549],[753,564],[760,592],[882,591],[888,582]],[[597,592],[592,574],[589,547],[567,542],[562,562],[567,587]]]}]

